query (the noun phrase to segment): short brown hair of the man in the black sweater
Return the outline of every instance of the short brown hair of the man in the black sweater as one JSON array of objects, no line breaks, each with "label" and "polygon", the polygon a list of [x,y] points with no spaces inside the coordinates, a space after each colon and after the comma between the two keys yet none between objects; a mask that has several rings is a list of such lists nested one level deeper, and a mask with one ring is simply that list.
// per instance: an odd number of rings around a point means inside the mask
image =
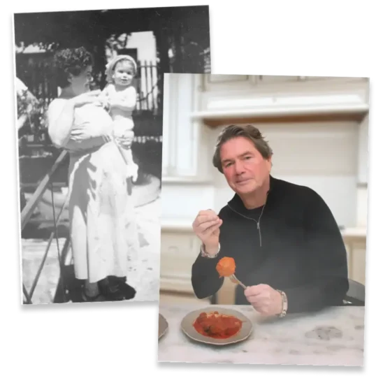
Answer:
[{"label": "short brown hair of the man in the black sweater", "polygon": [[229,125],[229,127],[222,129],[221,133],[219,133],[212,157],[213,166],[215,166],[221,173],[224,173],[221,163],[221,147],[224,143],[236,137],[244,137],[252,141],[254,147],[261,153],[264,159],[269,159],[273,155],[273,150],[271,150],[271,147],[268,145],[268,142],[262,136],[262,133],[258,128],[253,127],[252,125],[246,125],[245,127]]}]

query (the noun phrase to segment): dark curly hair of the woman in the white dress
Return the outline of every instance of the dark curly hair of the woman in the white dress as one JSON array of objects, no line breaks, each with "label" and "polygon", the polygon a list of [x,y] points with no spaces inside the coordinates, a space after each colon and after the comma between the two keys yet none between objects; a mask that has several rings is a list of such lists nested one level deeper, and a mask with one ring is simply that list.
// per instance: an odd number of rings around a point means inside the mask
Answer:
[{"label": "dark curly hair of the woman in the white dress", "polygon": [[57,78],[57,85],[65,88],[69,85],[68,75],[80,75],[89,65],[93,65],[92,54],[84,47],[68,48],[56,52],[53,66]]}]

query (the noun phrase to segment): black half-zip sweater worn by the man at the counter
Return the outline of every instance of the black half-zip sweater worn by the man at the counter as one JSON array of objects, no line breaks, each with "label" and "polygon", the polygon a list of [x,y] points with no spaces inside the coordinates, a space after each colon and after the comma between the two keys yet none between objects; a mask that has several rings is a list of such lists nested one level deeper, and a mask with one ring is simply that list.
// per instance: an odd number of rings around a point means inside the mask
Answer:
[{"label": "black half-zip sweater worn by the man at the counter", "polygon": [[[342,305],[349,287],[347,252],[331,210],[314,190],[270,176],[264,206],[248,210],[235,194],[219,217],[219,254],[210,259],[200,253],[192,266],[197,298],[222,287],[224,279],[215,266],[231,256],[236,277],[246,286],[268,284],[284,291],[287,312]],[[236,304],[249,304],[239,286]]]}]

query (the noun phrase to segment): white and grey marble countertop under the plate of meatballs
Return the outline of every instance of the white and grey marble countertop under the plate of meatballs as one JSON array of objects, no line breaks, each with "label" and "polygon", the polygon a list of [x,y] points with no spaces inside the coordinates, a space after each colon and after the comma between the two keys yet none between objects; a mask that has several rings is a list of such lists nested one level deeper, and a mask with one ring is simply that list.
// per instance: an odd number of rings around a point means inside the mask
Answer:
[{"label": "white and grey marble countertop under the plate of meatballs", "polygon": [[[238,310],[254,324],[247,340],[226,346],[194,342],[182,332],[182,318],[188,312],[206,307],[203,303],[166,305],[160,301],[159,313],[168,321],[168,331],[158,342],[159,362],[312,366],[364,364],[364,307],[328,308],[315,314],[265,319],[248,305],[217,305],[214,310],[219,307]],[[326,331],[328,328],[332,328],[330,336]]]}]

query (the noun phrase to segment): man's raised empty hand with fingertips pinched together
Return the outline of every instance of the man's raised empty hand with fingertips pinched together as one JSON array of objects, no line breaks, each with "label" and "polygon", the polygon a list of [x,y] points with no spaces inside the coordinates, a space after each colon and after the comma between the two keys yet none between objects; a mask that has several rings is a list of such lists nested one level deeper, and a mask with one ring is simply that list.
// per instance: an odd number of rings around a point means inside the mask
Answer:
[{"label": "man's raised empty hand with fingertips pinched together", "polygon": [[201,210],[193,222],[193,231],[205,246],[208,254],[217,254],[219,250],[219,227],[222,219],[213,210]]}]

